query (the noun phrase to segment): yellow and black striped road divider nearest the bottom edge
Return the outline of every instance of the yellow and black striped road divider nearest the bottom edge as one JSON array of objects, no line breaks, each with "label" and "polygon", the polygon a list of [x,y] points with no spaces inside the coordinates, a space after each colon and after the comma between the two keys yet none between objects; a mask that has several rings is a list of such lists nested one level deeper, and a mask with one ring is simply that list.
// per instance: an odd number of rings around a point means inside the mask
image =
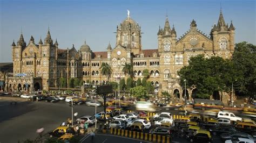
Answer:
[{"label": "yellow and black striped road divider nearest the bottom edge", "polygon": [[110,128],[110,134],[118,135],[120,137],[128,137],[133,139],[140,139],[140,140],[159,142],[159,143],[171,142],[170,137],[167,137],[165,135],[129,131],[129,130],[123,130],[123,129],[117,129],[117,128]]}]

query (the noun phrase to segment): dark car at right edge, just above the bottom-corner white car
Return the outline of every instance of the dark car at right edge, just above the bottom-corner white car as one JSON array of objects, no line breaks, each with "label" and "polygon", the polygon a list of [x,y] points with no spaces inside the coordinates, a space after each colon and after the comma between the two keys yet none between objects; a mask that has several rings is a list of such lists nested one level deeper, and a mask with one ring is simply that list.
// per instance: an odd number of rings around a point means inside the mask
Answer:
[{"label": "dark car at right edge, just above the bottom-corner white car", "polygon": [[232,139],[237,139],[237,138],[247,138],[251,140],[255,140],[252,135],[244,133],[244,132],[228,132],[228,133],[223,133],[220,135],[221,140],[232,140]]}]

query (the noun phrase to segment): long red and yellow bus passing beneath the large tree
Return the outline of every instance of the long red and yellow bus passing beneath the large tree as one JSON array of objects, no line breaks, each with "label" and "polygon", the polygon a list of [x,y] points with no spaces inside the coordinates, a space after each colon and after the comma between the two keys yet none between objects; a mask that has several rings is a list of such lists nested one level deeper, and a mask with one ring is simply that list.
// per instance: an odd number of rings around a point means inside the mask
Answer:
[{"label": "long red and yellow bus passing beneath the large tree", "polygon": [[217,108],[223,109],[224,104],[218,100],[210,100],[210,99],[194,99],[193,108],[205,110],[207,108]]}]

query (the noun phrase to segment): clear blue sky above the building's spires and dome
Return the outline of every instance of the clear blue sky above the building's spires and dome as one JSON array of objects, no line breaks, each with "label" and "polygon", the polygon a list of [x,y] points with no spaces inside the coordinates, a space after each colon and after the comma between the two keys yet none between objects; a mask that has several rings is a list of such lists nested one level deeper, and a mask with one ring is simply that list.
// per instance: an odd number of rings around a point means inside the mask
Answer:
[{"label": "clear blue sky above the building's spires and dome", "polygon": [[[221,5],[221,6],[220,6]],[[220,7],[225,22],[235,26],[235,43],[247,41],[256,44],[255,1],[251,0],[131,0],[131,1],[45,1],[0,0],[0,62],[11,62],[11,44],[17,42],[21,31],[29,43],[31,35],[38,43],[46,37],[48,27],[59,48],[78,50],[86,44],[93,52],[106,51],[107,45],[116,45],[116,27],[130,17],[142,27],[142,48],[157,48],[159,25],[164,26],[166,13],[170,25],[175,26],[177,39],[190,29],[192,19],[205,34],[218,23]]]}]

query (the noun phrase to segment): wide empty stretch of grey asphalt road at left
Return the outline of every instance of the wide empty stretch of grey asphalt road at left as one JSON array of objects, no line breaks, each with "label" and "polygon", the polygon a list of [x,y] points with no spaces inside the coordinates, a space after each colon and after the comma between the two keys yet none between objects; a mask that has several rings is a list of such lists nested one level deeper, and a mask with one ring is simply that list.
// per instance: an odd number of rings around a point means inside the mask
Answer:
[{"label": "wide empty stretch of grey asphalt road at left", "polygon": [[[0,102],[0,142],[17,142],[35,139],[36,130],[44,127],[45,131],[54,130],[67,118],[71,117],[69,103],[18,102],[16,105],[6,104],[11,101],[1,99]],[[2,105],[2,106],[1,106]],[[102,111],[103,108],[98,108]],[[93,115],[95,108],[85,104],[77,105],[74,113],[78,116]]]}]

